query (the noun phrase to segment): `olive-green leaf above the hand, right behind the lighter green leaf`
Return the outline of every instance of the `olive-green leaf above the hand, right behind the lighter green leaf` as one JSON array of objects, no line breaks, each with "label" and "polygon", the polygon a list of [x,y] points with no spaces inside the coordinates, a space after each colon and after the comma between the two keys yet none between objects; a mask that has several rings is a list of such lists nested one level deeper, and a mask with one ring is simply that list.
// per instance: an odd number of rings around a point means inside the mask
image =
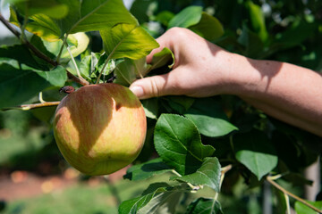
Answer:
[{"label": "olive-green leaf above the hand, right behind the lighter green leaf", "polygon": [[189,29],[209,41],[214,41],[224,35],[224,28],[222,24],[207,12],[202,12],[199,23],[191,26]]}]

